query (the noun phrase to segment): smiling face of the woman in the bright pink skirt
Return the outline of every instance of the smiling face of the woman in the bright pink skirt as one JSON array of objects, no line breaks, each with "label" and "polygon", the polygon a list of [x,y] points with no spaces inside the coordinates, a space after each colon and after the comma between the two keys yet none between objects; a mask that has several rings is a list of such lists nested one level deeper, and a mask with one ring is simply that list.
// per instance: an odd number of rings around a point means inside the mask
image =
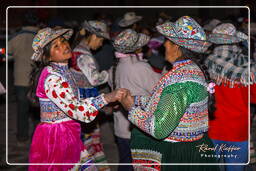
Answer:
[{"label": "smiling face of the woman in the bright pink skirt", "polygon": [[72,52],[68,41],[63,37],[58,37],[51,43],[50,61],[68,63]]}]

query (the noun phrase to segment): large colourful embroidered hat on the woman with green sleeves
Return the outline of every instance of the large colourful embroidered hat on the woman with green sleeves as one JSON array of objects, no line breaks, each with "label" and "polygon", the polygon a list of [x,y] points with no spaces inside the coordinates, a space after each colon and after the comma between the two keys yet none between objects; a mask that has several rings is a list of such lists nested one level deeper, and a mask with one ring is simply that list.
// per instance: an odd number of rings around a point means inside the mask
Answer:
[{"label": "large colourful embroidered hat on the woman with green sleeves", "polygon": [[203,53],[211,45],[203,28],[189,16],[180,17],[175,23],[165,22],[156,29],[175,44],[194,52]]}]

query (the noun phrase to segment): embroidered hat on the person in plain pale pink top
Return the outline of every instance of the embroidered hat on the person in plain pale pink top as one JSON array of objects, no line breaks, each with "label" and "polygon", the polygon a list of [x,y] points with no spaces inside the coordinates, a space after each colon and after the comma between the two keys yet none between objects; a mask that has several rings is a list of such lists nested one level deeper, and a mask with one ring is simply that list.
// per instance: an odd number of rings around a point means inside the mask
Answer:
[{"label": "embroidered hat on the person in plain pale pink top", "polygon": [[145,46],[149,39],[150,37],[145,34],[126,29],[116,36],[113,46],[118,52],[131,53]]}]

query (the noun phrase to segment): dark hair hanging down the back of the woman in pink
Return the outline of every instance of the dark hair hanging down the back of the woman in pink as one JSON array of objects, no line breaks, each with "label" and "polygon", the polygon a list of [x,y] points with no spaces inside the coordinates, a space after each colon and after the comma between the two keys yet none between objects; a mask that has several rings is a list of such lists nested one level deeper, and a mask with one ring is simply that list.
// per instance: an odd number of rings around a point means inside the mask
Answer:
[{"label": "dark hair hanging down the back of the woman in pink", "polygon": [[27,96],[31,104],[34,106],[39,105],[39,99],[36,96],[36,88],[37,88],[38,80],[42,70],[44,69],[44,67],[50,64],[50,49],[51,49],[51,43],[47,44],[43,48],[43,55],[41,60],[34,61],[32,63],[32,71],[30,72],[30,89]]}]

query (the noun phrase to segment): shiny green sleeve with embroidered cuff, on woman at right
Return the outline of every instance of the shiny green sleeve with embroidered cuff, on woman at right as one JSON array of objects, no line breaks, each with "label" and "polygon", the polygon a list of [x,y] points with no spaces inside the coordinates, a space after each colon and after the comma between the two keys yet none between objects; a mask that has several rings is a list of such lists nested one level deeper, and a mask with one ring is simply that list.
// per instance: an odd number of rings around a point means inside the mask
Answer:
[{"label": "shiny green sleeve with embroidered cuff, on woman at right", "polygon": [[144,132],[163,139],[178,126],[191,103],[206,97],[205,87],[198,83],[176,83],[164,88],[155,111],[151,112],[150,106],[146,106],[144,110],[140,106],[134,106],[129,111],[128,118]]}]

